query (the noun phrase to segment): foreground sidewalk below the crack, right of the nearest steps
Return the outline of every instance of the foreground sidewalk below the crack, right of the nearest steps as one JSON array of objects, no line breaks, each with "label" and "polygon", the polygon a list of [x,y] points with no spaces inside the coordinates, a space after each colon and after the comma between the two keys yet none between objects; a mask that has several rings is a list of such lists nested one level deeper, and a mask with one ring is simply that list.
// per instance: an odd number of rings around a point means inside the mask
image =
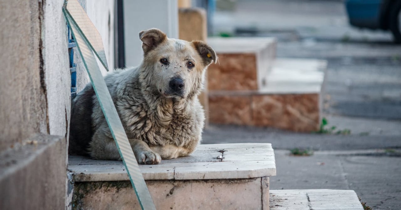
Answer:
[{"label": "foreground sidewalk below the crack, right of the nearest steps", "polygon": [[315,152],[290,156],[275,150],[270,189],[354,190],[374,210],[400,209],[401,158],[381,151]]}]

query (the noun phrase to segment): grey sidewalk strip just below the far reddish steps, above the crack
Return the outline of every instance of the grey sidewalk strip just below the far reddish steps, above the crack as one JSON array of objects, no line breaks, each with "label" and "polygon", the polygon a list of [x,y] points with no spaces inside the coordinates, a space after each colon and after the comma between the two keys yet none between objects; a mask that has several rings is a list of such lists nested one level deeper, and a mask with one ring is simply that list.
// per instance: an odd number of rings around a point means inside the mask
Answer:
[{"label": "grey sidewalk strip just below the far reddish steps, above the crack", "polygon": [[401,148],[401,122],[328,116],[328,127],[349,129],[349,135],[295,133],[275,128],[212,124],[203,144],[268,142],[275,150],[366,150]]}]

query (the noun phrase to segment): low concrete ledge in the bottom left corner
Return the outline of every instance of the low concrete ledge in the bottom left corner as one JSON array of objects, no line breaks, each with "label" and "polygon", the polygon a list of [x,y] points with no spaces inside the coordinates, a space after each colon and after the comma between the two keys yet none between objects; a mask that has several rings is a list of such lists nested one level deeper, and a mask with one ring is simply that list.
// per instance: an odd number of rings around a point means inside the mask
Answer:
[{"label": "low concrete ledge in the bottom left corner", "polygon": [[0,154],[0,209],[65,209],[65,146],[41,134]]}]

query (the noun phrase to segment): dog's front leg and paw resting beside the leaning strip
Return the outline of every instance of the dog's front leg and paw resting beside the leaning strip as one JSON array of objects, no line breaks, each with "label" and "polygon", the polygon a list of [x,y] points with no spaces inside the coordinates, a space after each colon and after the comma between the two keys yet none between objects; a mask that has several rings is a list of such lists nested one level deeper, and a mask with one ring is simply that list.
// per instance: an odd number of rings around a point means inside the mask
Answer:
[{"label": "dog's front leg and paw resting beside the leaning strip", "polygon": [[139,164],[159,164],[162,158],[151,150],[146,142],[138,139],[129,139],[136,160]]}]

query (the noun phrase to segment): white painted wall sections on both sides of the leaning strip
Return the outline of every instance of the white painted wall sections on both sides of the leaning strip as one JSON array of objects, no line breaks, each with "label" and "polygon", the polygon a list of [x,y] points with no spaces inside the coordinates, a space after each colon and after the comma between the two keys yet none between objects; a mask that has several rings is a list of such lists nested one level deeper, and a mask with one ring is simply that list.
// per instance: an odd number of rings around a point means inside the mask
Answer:
[{"label": "white painted wall sections on both sides of the leaning strip", "polygon": [[[109,69],[114,68],[114,0],[86,0],[81,2],[97,30],[99,30]],[[71,74],[67,48],[67,26],[62,13],[63,1],[54,1],[44,7],[42,42],[47,90],[49,134],[66,136],[70,119]],[[82,90],[89,82],[78,50],[75,48],[77,63],[77,89]],[[98,62],[102,73],[106,71]],[[68,136],[67,136],[68,137]]]}]

